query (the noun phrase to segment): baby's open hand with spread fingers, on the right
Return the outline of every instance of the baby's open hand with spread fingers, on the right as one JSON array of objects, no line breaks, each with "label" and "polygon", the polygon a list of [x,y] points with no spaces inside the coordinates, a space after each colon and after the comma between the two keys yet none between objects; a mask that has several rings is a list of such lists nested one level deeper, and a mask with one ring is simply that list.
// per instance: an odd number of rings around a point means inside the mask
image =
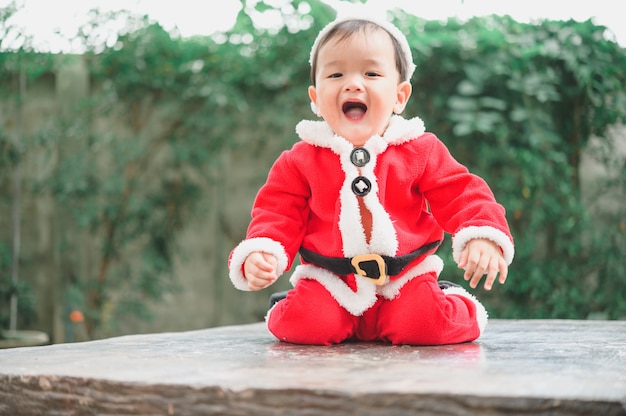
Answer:
[{"label": "baby's open hand with spread fingers, on the right", "polygon": [[470,281],[472,288],[478,286],[480,279],[486,273],[485,290],[491,290],[498,272],[500,273],[498,281],[503,284],[509,270],[500,247],[484,238],[467,242],[459,257],[459,268],[465,270],[463,278]]}]

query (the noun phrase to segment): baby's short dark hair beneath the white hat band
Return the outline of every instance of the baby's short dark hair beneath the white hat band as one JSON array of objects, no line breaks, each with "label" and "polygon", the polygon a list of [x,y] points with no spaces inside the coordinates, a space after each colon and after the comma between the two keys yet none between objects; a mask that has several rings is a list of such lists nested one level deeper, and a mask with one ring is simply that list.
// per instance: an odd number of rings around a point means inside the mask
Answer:
[{"label": "baby's short dark hair beneath the white hat band", "polygon": [[409,74],[410,62],[406,62],[406,59],[404,58],[404,53],[402,52],[402,47],[400,46],[400,42],[398,42],[398,40],[393,37],[391,33],[389,33],[385,28],[377,25],[376,23],[370,22],[369,20],[354,19],[337,23],[337,25],[331,28],[328,33],[326,33],[317,43],[317,49],[314,51],[314,54],[311,57],[311,84],[315,86],[317,57],[320,53],[320,49],[322,49],[322,46],[326,45],[331,39],[337,36],[341,41],[350,38],[357,32],[365,33],[366,31],[374,32],[376,30],[385,31],[389,35],[389,38],[391,38],[394,55],[396,57],[396,68],[398,69],[398,73],[400,74],[400,79],[407,79]]}]

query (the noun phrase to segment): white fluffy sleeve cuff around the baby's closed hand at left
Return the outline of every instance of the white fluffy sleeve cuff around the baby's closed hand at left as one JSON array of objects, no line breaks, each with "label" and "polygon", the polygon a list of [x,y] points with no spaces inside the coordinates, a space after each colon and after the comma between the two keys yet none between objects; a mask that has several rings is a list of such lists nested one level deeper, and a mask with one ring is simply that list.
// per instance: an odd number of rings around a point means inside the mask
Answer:
[{"label": "white fluffy sleeve cuff around the baby's closed hand at left", "polygon": [[288,258],[285,248],[278,241],[274,241],[271,238],[259,237],[243,240],[235,249],[230,258],[230,264],[228,266],[228,277],[233,282],[233,285],[239,290],[249,291],[248,282],[243,275],[243,264],[246,258],[255,251],[261,251],[264,253],[273,254],[276,256],[278,262],[276,274],[280,276],[287,269]]}]

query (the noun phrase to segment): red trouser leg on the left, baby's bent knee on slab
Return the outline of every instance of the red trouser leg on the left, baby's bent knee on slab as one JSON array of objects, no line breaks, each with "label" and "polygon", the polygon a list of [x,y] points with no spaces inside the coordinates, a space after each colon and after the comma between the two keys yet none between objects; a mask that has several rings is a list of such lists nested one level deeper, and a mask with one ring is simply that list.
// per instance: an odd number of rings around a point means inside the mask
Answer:
[{"label": "red trouser leg on the left, baby's bent knee on slab", "polygon": [[331,345],[352,337],[357,319],[318,281],[301,279],[270,310],[267,327],[281,341]]}]

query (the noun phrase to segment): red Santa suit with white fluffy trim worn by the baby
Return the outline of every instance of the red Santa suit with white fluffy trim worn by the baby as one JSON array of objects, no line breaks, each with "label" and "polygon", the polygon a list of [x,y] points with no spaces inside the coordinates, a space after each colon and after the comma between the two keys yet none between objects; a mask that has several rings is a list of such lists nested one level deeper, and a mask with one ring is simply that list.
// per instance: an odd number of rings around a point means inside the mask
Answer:
[{"label": "red Santa suit with white fluffy trim worn by the baby", "polygon": [[418,254],[382,284],[302,259],[290,279],[294,288],[267,314],[269,330],[282,341],[324,345],[478,338],[487,323],[485,308],[461,287],[440,289],[443,261],[434,251],[450,233],[458,262],[469,240],[486,238],[510,264],[513,239],[487,184],[425,133],[419,118],[394,115],[382,137],[357,149],[324,121],[302,121],[296,132],[302,140],[275,162],[256,197],[246,239],[231,253],[235,287],[248,290],[243,264],[254,251],[276,256],[279,275],[301,248],[333,261]]}]

